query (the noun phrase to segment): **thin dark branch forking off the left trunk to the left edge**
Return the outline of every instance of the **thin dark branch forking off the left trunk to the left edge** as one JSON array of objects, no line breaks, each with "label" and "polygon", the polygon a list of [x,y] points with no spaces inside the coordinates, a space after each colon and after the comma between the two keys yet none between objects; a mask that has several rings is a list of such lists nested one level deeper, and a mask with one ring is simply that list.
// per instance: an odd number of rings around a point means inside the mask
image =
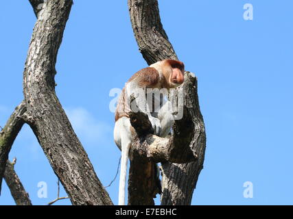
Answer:
[{"label": "thin dark branch forking off the left trunk to the left edge", "polygon": [[26,107],[23,101],[15,108],[5,127],[0,131],[0,192],[8,155],[16,136],[21,131],[21,127],[23,127],[24,121],[21,116],[25,111]]}]

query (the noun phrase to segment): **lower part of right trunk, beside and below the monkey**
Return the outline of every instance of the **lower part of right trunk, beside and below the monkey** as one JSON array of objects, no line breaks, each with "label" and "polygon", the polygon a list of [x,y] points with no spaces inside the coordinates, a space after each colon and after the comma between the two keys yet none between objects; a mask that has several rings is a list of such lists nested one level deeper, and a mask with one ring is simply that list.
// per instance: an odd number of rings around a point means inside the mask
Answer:
[{"label": "lower part of right trunk, beside and below the monkey", "polygon": [[[187,139],[182,138],[181,144],[188,144],[196,157],[195,162],[185,164],[162,163],[161,205],[190,205],[196,188],[198,176],[203,168],[206,147],[206,135],[200,106],[198,103],[198,83],[193,74],[185,74],[184,83],[184,115],[176,120],[174,138],[177,133],[191,133]],[[180,138],[178,138],[180,140]]]}]

